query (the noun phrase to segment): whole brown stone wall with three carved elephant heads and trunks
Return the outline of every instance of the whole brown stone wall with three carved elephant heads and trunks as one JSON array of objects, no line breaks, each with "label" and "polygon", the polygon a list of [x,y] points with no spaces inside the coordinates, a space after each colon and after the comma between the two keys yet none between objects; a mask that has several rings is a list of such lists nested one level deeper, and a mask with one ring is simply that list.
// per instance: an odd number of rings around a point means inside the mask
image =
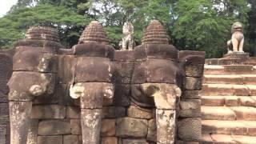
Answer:
[{"label": "whole brown stone wall with three carved elephant heads and trunks", "polygon": [[[205,53],[176,50],[157,21],[134,50],[116,51],[108,42],[98,22],[70,50],[53,29],[28,31],[15,46],[9,81],[11,144],[200,141]],[[9,129],[0,126],[2,140]]]}]

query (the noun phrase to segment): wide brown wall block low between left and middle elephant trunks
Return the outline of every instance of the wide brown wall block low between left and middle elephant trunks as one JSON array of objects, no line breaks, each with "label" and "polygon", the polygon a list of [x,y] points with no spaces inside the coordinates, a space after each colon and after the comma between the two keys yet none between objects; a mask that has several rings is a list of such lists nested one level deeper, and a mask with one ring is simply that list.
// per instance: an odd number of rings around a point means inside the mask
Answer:
[{"label": "wide brown wall block low between left and middle elephant trunks", "polygon": [[39,122],[39,135],[71,134],[70,122],[62,120],[46,120]]}]

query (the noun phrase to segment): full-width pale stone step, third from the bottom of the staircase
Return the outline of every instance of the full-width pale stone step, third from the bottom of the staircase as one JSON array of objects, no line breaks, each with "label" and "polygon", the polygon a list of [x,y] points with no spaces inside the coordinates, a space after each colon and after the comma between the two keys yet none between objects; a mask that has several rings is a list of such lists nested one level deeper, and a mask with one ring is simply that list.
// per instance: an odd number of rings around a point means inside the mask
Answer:
[{"label": "full-width pale stone step, third from the bottom of the staircase", "polygon": [[204,120],[256,120],[256,108],[249,106],[201,106]]}]

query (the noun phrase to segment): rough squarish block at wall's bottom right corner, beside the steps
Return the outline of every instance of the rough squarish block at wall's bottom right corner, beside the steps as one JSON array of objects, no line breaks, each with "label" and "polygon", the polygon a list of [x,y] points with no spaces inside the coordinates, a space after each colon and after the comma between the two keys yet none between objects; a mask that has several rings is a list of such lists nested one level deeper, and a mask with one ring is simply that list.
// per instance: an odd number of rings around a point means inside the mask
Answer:
[{"label": "rough squarish block at wall's bottom right corner, beside the steps", "polygon": [[178,122],[178,138],[183,141],[198,141],[201,134],[201,118],[184,118]]}]

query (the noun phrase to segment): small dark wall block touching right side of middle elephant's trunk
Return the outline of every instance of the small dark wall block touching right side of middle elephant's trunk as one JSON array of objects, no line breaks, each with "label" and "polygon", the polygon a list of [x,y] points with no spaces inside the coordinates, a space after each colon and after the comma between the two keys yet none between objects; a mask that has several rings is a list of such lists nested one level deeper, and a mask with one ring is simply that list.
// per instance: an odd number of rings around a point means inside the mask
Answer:
[{"label": "small dark wall block touching right side of middle elephant's trunk", "polygon": [[102,118],[121,118],[126,115],[126,108],[122,106],[103,106]]}]

